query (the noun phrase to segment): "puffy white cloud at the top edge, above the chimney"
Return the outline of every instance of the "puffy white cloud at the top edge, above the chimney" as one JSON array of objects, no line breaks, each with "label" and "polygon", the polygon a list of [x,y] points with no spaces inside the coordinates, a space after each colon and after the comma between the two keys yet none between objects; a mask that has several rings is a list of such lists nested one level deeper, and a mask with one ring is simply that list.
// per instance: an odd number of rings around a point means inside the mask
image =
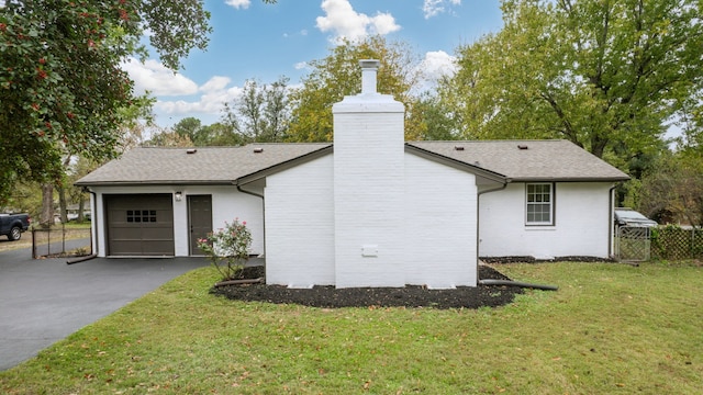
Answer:
[{"label": "puffy white cloud at the top edge, above the chimney", "polygon": [[322,32],[332,32],[333,42],[342,38],[356,42],[370,34],[383,35],[400,30],[390,13],[379,12],[376,16],[358,13],[348,0],[324,0],[321,7],[325,16],[317,16],[316,26]]}]

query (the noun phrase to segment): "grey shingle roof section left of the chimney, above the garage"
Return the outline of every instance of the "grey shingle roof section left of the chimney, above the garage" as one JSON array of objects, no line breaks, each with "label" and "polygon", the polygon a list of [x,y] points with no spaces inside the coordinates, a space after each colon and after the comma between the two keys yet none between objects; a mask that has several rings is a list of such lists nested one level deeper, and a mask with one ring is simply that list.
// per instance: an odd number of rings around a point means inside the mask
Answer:
[{"label": "grey shingle roof section left of the chimney, above the garage", "polygon": [[[311,143],[250,144],[242,147],[141,147],[100,167],[76,184],[231,184],[241,177],[330,146],[328,143]],[[192,150],[194,153],[188,154]]]}]

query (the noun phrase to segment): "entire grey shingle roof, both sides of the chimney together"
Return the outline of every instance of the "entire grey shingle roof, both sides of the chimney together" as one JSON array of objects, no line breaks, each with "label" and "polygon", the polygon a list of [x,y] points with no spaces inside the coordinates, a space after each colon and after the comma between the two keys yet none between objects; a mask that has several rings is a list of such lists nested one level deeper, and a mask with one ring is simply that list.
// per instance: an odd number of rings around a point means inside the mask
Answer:
[{"label": "entire grey shingle roof, both sides of the chimney together", "polygon": [[[567,140],[412,142],[415,149],[479,167],[513,181],[621,181],[624,172]],[[77,185],[232,184],[323,151],[330,143],[243,147],[135,148]],[[521,149],[520,147],[526,147]],[[255,150],[260,151],[257,153]],[[188,154],[189,150],[197,150]],[[283,168],[283,167],[281,167]]]}]

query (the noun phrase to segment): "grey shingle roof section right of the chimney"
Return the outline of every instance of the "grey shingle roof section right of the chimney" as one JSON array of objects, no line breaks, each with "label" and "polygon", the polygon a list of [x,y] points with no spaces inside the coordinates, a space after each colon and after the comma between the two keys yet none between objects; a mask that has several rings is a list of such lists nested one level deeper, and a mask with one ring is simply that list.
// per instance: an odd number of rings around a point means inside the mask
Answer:
[{"label": "grey shingle roof section right of the chimney", "polygon": [[568,140],[408,143],[513,181],[622,181],[629,177]]}]

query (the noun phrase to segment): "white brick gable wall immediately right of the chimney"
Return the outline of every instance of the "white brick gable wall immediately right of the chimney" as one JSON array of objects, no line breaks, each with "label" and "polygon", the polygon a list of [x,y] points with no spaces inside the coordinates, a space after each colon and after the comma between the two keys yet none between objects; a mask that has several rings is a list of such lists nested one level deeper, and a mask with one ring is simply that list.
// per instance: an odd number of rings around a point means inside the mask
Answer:
[{"label": "white brick gable wall immediately right of the chimney", "polygon": [[405,156],[405,282],[476,286],[473,174]]}]

